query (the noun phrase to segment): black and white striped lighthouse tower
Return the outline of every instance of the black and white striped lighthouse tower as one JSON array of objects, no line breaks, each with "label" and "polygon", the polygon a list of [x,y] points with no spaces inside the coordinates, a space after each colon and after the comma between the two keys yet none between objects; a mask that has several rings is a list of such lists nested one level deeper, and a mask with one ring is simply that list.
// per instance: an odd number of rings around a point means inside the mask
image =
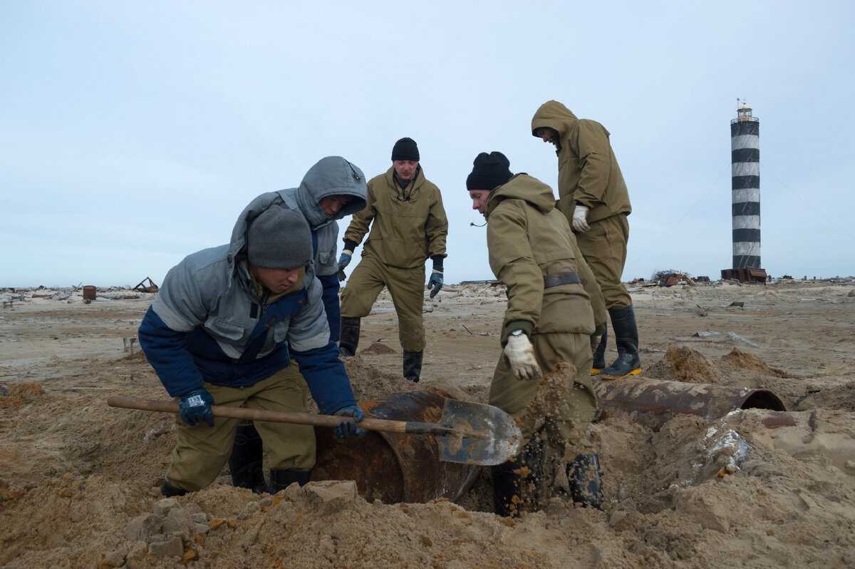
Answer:
[{"label": "black and white striped lighthouse tower", "polygon": [[760,121],[743,103],[730,122],[734,269],[760,268]]}]

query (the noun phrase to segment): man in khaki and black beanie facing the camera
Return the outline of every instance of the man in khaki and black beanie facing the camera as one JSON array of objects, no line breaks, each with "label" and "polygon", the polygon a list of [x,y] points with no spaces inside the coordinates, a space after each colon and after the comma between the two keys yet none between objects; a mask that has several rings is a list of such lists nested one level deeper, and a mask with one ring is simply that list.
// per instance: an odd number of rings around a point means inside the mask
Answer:
[{"label": "man in khaki and black beanie facing the camera", "polygon": [[351,262],[369,224],[363,258],[341,293],[339,348],[343,356],[357,353],[360,318],[369,315],[380,291],[387,287],[398,313],[404,378],[418,382],[425,347],[424,265],[428,258],[433,262],[428,282],[433,298],[443,285],[448,219],[439,188],[425,178],[419,165],[419,149],[413,139],[398,140],[392,148],[392,168],[369,181],[368,204],[353,215],[345,232],[339,270]]}]

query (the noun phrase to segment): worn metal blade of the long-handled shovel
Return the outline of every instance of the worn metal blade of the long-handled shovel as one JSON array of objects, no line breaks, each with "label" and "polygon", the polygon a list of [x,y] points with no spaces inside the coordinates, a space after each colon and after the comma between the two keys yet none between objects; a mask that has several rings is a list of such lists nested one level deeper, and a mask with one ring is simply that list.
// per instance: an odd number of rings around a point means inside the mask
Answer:
[{"label": "worn metal blade of the long-handled shovel", "polygon": [[522,447],[522,431],[516,421],[498,407],[445,400],[439,423],[474,435],[437,436],[440,460],[465,465],[500,465],[516,456]]}]

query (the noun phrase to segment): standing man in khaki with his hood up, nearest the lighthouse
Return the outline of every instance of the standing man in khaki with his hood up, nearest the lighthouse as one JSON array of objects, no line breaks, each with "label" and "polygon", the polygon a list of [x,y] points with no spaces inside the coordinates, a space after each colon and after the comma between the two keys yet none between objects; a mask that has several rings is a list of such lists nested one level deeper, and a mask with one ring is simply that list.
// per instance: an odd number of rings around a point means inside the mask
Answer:
[{"label": "standing man in khaki with his hood up, nearest the lighthouse", "polygon": [[556,146],[559,208],[597,276],[615,330],[617,359],[605,367],[604,332],[594,353],[593,373],[606,379],[639,374],[633,300],[621,282],[627,261],[627,216],[632,206],[611,150],[609,131],[596,121],[576,118],[557,101],[547,101],[534,113],[532,134]]}]

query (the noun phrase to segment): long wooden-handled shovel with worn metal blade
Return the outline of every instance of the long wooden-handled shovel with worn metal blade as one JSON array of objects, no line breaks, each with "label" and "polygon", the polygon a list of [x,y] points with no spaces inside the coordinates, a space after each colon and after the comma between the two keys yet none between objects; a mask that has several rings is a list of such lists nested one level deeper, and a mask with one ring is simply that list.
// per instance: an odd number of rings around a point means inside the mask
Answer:
[{"label": "long wooden-handled shovel with worn metal blade", "polygon": [[[144,400],[133,397],[109,397],[107,405],[123,409],[139,409],[177,413],[174,400]],[[310,424],[315,427],[335,427],[348,420],[334,415],[314,413],[275,412],[244,407],[211,406],[214,417],[236,418],[271,423]],[[514,418],[494,406],[446,399],[439,423],[391,421],[366,417],[359,426],[365,430],[380,430],[402,435],[433,435],[439,447],[439,459],[467,465],[499,465],[520,452],[522,431]]]}]

